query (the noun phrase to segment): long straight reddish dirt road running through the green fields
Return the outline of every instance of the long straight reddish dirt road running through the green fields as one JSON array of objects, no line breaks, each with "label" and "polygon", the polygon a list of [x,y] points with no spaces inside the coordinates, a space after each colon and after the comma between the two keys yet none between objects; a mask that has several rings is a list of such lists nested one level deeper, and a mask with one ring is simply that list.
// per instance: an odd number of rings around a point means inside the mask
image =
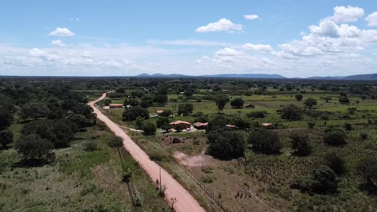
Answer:
[{"label": "long straight reddish dirt road running through the green fields", "polygon": [[[123,138],[123,145],[128,152],[135,158],[136,161],[139,161],[141,167],[149,174],[153,179],[159,179],[159,165],[154,161],[149,159],[149,156],[142,150],[140,147],[133,142],[133,140],[124,132],[118,124],[115,124],[105,115],[103,115],[97,108],[95,108],[94,103],[102,100],[106,97],[104,93],[100,98],[95,101],[89,102],[89,106],[94,109],[94,112],[97,114],[97,118],[106,123],[106,125],[115,133],[115,135]],[[166,184],[166,198],[170,201],[171,197],[175,197],[177,202],[174,204],[174,207],[179,212],[205,212],[205,210],[199,205],[198,201],[192,197],[192,195],[187,192],[184,187],[181,186],[165,169],[161,168],[161,182]],[[157,198],[157,197],[156,197]]]}]

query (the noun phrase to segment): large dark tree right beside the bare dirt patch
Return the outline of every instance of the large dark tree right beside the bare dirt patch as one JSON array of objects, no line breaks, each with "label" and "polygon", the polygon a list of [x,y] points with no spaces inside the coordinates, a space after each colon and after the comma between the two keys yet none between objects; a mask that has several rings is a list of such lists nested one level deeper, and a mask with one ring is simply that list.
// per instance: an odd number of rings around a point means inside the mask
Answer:
[{"label": "large dark tree right beside the bare dirt patch", "polygon": [[246,142],[241,133],[219,128],[207,135],[207,152],[213,157],[227,160],[244,155]]}]

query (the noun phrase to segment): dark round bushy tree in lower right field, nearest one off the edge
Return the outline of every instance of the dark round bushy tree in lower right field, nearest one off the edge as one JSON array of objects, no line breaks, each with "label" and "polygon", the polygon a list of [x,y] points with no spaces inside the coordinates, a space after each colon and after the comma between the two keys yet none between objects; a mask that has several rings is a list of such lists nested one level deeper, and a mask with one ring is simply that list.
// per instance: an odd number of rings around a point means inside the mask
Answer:
[{"label": "dark round bushy tree in lower right field, nearest one off the edge", "polygon": [[312,174],[313,191],[318,194],[333,194],[338,189],[339,180],[328,166],[320,166],[314,169]]}]

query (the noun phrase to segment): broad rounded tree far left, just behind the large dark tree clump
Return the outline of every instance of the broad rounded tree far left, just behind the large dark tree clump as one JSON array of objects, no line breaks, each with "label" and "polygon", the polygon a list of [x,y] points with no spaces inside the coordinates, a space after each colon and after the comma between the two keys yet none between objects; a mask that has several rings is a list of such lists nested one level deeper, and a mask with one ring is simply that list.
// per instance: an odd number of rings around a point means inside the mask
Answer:
[{"label": "broad rounded tree far left, just behind the large dark tree clump", "polygon": [[47,117],[50,109],[44,103],[26,103],[20,109],[20,117],[28,119],[29,117],[38,119]]}]

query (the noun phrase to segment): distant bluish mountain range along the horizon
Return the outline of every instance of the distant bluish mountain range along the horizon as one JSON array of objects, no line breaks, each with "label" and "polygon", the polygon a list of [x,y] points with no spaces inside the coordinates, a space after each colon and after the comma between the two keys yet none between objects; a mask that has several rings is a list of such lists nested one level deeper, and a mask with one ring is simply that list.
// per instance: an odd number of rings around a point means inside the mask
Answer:
[{"label": "distant bluish mountain range along the horizon", "polygon": [[342,77],[307,77],[287,78],[279,74],[215,74],[215,75],[184,75],[184,74],[139,74],[134,77],[224,77],[224,78],[265,78],[265,79],[309,79],[309,80],[377,80],[377,74],[359,74]]}]

